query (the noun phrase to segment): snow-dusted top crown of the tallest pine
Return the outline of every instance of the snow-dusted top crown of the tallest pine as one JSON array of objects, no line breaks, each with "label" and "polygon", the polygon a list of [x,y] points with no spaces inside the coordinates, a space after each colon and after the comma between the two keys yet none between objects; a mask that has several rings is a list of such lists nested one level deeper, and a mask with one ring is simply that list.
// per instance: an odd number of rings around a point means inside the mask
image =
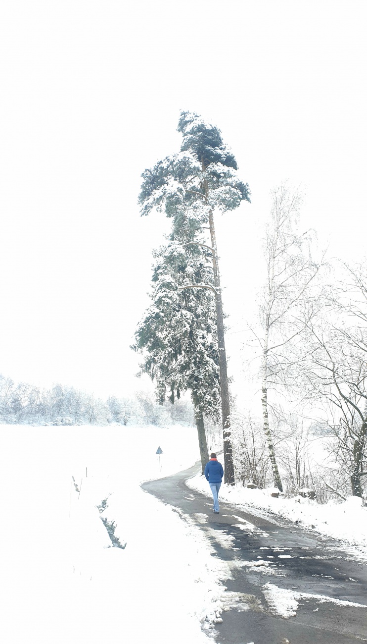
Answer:
[{"label": "snow-dusted top crown of the tallest pine", "polygon": [[237,162],[220,130],[190,112],[181,112],[177,129],[183,135],[181,151],[143,172],[141,214],[157,209],[179,220],[186,211],[190,225],[198,229],[211,210],[224,213],[242,200],[249,202],[249,186],[238,178]]}]

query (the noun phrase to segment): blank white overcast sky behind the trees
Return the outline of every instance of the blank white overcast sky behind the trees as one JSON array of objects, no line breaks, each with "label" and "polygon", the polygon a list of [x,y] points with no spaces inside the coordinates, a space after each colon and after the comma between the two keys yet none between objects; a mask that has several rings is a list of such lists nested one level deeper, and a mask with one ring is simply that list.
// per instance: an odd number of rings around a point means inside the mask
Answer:
[{"label": "blank white overcast sky behind the trees", "polygon": [[3,3],[0,372],[103,397],[143,386],[129,345],[167,222],[136,201],[145,167],[179,149],[181,108],[219,126],[252,192],[217,222],[234,329],[282,179],[305,191],[305,229],[361,257],[366,14],[364,0]]}]

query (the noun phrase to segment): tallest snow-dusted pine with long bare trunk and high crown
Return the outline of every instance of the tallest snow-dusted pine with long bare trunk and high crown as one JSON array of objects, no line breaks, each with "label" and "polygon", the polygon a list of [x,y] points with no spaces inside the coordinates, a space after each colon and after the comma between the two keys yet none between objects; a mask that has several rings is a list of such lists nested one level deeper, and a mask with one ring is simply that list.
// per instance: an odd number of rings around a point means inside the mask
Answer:
[{"label": "tallest snow-dusted pine with long bare trunk and high crown", "polygon": [[[157,209],[172,218],[172,241],[180,239],[179,231],[186,226],[189,241],[184,242],[185,253],[192,252],[192,247],[201,249],[203,253],[210,253],[211,279],[208,279],[208,269],[205,269],[205,281],[197,279],[196,273],[195,279],[192,279],[193,274],[186,272],[188,283],[177,288],[193,292],[210,291],[214,295],[224,438],[224,480],[233,484],[227,361],[214,213],[215,210],[222,213],[233,210],[242,200],[249,202],[249,187],[238,178],[235,157],[224,145],[217,127],[195,113],[183,111],[177,129],[183,135],[181,151],[167,156],[152,169],[145,170],[139,203],[142,215]],[[205,228],[210,231],[209,242],[202,238]],[[199,298],[199,295],[195,297]]]}]

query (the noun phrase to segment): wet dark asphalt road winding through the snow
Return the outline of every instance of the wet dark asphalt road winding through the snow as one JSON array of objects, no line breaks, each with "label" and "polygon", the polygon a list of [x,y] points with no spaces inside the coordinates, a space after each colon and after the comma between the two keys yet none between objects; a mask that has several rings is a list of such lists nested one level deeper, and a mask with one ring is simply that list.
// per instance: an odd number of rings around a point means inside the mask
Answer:
[{"label": "wet dark asphalt road winding through the snow", "polygon": [[[264,589],[324,595],[367,604],[367,562],[336,540],[246,506],[220,502],[212,512],[210,498],[187,488],[184,481],[198,466],[172,477],[143,484],[143,489],[174,506],[183,520],[194,522],[210,539],[213,556],[226,563],[223,579],[233,597],[231,609],[216,625],[218,644],[352,644],[367,641],[367,609],[317,598],[297,598],[296,616],[276,614]],[[179,553],[177,553],[179,556]],[[267,565],[255,566],[259,559]]]}]

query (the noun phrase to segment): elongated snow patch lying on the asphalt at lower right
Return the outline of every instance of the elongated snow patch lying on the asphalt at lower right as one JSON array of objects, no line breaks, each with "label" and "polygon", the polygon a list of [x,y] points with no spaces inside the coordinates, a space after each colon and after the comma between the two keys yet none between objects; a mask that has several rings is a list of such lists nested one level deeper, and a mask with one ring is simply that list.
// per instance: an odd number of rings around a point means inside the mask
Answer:
[{"label": "elongated snow patch lying on the asphalt at lower right", "polygon": [[300,600],[313,600],[319,603],[330,602],[338,606],[349,606],[357,608],[367,608],[364,604],[354,603],[354,601],[337,600],[327,595],[312,594],[310,592],[296,592],[279,588],[274,583],[265,583],[262,587],[265,600],[274,615],[279,615],[285,619],[294,617],[297,614],[298,602]]}]

